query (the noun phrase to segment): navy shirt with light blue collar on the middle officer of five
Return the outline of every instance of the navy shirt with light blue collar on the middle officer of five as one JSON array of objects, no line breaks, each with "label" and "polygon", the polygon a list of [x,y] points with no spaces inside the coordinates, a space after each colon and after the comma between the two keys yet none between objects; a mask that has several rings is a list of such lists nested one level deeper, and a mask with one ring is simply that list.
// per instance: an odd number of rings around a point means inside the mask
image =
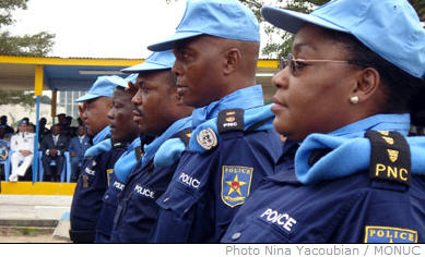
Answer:
[{"label": "navy shirt with light blue collar on the middle officer of five", "polygon": [[190,138],[190,117],[180,119],[143,146],[143,158],[120,195],[111,242],[147,242],[157,218],[156,200],[169,184],[185,143]]}]

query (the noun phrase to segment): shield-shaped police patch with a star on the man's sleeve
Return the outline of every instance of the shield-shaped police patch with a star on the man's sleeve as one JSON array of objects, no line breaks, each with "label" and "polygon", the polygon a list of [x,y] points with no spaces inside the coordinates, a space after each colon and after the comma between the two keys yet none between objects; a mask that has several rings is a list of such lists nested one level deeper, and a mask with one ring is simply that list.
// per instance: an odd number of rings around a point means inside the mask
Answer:
[{"label": "shield-shaped police patch with a star on the man's sleeve", "polygon": [[249,196],[253,168],[240,166],[222,167],[222,200],[229,207],[243,205]]}]

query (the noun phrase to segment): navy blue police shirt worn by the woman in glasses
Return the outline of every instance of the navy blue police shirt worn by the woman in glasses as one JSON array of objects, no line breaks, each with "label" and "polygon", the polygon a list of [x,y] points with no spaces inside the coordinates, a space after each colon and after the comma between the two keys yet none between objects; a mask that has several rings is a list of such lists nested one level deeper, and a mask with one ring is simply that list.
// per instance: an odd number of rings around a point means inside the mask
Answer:
[{"label": "navy blue police shirt worn by the woman in glasses", "polygon": [[[356,132],[364,133],[362,128],[399,131],[406,135],[409,119],[371,117],[333,135],[354,138],[358,136]],[[278,173],[265,178],[240,208],[223,243],[425,242],[424,175],[413,174],[410,187],[373,180],[367,170],[302,184],[291,158],[298,145],[287,143],[285,147]],[[347,161],[354,159],[338,162],[344,168]],[[337,167],[329,167],[323,172],[334,170]]]}]

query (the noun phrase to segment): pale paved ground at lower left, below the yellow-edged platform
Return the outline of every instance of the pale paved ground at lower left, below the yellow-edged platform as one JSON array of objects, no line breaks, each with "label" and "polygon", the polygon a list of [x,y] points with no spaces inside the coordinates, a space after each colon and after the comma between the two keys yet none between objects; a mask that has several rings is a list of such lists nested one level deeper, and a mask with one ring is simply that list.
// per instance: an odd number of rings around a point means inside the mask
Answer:
[{"label": "pale paved ground at lower left, below the yellow-edged platform", "polygon": [[0,195],[0,243],[69,242],[69,221],[60,220],[71,201],[72,196]]}]

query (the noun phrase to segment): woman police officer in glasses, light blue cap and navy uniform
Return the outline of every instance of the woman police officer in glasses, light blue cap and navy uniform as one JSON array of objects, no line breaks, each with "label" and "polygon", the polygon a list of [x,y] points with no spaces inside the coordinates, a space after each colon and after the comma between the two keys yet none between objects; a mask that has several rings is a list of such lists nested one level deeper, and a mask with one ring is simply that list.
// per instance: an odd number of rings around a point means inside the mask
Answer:
[{"label": "woman police officer in glasses, light blue cap and navy uniform", "polygon": [[222,242],[425,242],[425,138],[406,137],[425,78],[413,8],[340,0],[309,15],[261,13],[296,34],[272,79],[274,127],[288,142]]}]

